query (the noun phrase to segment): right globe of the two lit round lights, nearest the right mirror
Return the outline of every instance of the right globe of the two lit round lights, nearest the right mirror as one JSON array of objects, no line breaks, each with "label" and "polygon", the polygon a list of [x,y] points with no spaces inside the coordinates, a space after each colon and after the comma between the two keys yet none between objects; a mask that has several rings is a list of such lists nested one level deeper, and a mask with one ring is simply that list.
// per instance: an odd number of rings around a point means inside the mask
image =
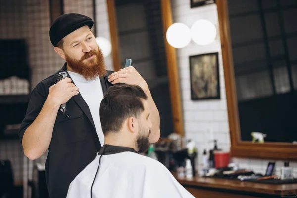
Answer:
[{"label": "right globe of the two lit round lights, nearest the right mirror", "polygon": [[191,27],[191,37],[198,45],[210,44],[215,40],[216,28],[208,20],[198,20]]}]

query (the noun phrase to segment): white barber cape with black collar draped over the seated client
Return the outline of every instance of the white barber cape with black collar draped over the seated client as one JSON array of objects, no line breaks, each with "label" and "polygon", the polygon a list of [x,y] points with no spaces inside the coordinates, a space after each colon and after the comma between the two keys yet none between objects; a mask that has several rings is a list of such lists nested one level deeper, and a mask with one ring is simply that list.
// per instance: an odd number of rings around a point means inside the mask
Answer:
[{"label": "white barber cape with black collar draped over the seated client", "polygon": [[67,198],[91,198],[93,180],[92,198],[194,198],[162,163],[133,148],[104,145],[71,182]]}]

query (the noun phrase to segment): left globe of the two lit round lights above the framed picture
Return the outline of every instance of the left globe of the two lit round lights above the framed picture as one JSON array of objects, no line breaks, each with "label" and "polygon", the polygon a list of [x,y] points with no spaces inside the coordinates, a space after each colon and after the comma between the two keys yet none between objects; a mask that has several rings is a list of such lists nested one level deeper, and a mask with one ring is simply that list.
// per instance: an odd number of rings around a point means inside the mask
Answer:
[{"label": "left globe of the two lit round lights above the framed picture", "polygon": [[174,23],[167,29],[166,39],[172,47],[183,48],[191,41],[190,28],[183,23]]}]

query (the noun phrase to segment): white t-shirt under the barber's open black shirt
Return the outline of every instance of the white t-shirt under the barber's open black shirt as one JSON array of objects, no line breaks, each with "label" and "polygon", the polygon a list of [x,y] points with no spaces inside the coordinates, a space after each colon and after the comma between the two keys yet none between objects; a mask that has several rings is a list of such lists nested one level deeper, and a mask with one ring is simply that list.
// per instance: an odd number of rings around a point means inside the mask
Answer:
[{"label": "white t-shirt under the barber's open black shirt", "polygon": [[101,87],[100,78],[97,77],[95,80],[87,81],[83,76],[78,73],[67,71],[75,83],[76,87],[79,88],[79,92],[82,95],[85,102],[88,104],[94,124],[95,129],[100,140],[101,146],[104,145],[104,135],[101,127],[100,121],[100,103],[103,99],[103,90]]}]

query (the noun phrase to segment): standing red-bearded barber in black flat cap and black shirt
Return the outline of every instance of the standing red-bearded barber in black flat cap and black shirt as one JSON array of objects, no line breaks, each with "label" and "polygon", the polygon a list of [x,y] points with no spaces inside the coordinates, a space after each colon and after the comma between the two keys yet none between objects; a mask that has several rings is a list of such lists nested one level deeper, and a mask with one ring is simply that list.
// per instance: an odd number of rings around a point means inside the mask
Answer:
[{"label": "standing red-bearded barber in black flat cap and black shirt", "polygon": [[66,63],[32,90],[19,130],[29,159],[48,150],[45,168],[50,198],[65,198],[71,181],[104,144],[99,104],[113,84],[139,85],[145,91],[153,123],[149,141],[160,137],[159,113],[146,81],[134,67],[118,72],[105,69],[90,30],[93,24],[91,18],[76,13],[64,14],[52,24],[50,41]]}]

